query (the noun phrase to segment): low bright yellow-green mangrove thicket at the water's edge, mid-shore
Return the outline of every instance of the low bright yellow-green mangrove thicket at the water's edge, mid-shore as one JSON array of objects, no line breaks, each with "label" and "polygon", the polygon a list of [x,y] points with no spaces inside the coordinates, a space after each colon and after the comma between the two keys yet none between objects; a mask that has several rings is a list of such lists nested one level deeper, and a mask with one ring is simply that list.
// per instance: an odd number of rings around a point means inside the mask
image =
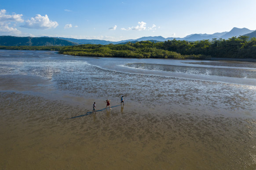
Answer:
[{"label": "low bright yellow-green mangrove thicket at the water's edge, mid-shore", "polygon": [[140,41],[127,44],[66,46],[59,53],[74,56],[91,57],[129,57],[129,58],[174,58],[174,59],[209,59],[210,56],[202,54],[185,54],[163,50],[162,43]]}]

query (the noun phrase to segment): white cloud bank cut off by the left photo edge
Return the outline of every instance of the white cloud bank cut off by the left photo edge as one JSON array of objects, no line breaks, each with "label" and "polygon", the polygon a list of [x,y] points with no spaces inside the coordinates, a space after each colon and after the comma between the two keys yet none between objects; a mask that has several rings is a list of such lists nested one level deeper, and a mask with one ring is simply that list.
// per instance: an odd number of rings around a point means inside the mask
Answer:
[{"label": "white cloud bank cut off by the left photo edge", "polygon": [[20,35],[21,31],[19,31],[17,28],[14,28],[16,26],[15,23],[17,22],[24,22],[22,19],[22,14],[8,15],[6,14],[5,9],[0,10],[0,33],[2,35]]}]

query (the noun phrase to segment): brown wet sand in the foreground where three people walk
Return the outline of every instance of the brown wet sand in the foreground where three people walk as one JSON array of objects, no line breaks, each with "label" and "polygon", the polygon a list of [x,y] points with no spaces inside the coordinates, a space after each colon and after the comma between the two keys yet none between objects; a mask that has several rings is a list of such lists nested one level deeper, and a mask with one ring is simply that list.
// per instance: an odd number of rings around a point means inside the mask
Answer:
[{"label": "brown wet sand in the foreground where three people walk", "polygon": [[67,119],[92,106],[0,96],[1,170],[256,168],[253,119],[152,110],[132,101]]}]

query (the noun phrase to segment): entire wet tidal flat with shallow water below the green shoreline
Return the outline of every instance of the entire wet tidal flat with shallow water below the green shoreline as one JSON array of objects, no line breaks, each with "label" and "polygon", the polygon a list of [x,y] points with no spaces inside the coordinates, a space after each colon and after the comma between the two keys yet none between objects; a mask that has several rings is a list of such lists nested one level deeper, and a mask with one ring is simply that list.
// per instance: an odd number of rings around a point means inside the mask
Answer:
[{"label": "entire wet tidal flat with shallow water below the green shoreline", "polygon": [[255,169],[255,66],[0,50],[0,167]]}]

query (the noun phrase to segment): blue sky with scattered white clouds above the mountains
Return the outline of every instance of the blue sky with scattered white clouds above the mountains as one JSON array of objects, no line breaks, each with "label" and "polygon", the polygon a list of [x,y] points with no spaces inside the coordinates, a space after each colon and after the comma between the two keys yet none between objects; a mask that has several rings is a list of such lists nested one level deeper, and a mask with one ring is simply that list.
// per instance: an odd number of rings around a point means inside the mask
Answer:
[{"label": "blue sky with scattered white clouds above the mountains", "polygon": [[0,0],[0,35],[121,41],[256,30],[256,0]]}]

